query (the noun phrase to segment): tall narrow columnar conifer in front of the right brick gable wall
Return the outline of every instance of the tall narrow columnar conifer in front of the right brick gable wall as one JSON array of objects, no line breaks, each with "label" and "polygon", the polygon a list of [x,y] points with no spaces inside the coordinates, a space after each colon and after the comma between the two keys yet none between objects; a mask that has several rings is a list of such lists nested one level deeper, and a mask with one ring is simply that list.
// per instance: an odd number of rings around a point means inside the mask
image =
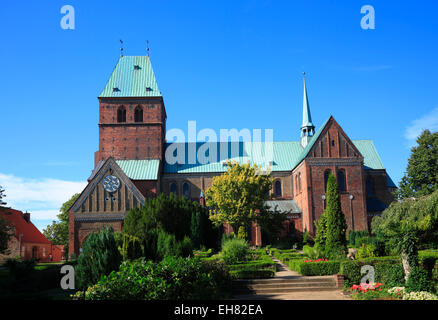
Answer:
[{"label": "tall narrow columnar conifer in front of the right brick gable wall", "polygon": [[327,219],[326,253],[332,259],[344,257],[347,251],[347,223],[341,209],[338,183],[333,173],[327,181],[327,206],[324,214]]}]

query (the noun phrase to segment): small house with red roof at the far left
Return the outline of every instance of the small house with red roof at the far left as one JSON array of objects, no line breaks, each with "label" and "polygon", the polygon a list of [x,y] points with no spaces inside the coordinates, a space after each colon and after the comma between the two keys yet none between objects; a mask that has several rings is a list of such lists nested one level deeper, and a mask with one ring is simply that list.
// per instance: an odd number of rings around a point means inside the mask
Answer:
[{"label": "small house with red roof at the far left", "polygon": [[61,261],[64,246],[54,245],[30,221],[30,213],[0,207],[0,218],[6,220],[11,237],[8,243],[9,253],[0,254],[0,264],[8,258],[23,260],[37,259],[39,262]]}]

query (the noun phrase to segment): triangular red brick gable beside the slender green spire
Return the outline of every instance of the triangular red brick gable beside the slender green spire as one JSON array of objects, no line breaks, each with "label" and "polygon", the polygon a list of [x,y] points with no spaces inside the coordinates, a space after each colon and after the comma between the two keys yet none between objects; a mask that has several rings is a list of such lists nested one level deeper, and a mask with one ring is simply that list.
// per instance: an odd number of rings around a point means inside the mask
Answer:
[{"label": "triangular red brick gable beside the slender green spire", "polygon": [[311,158],[363,158],[340,125],[331,116],[307,154]]}]

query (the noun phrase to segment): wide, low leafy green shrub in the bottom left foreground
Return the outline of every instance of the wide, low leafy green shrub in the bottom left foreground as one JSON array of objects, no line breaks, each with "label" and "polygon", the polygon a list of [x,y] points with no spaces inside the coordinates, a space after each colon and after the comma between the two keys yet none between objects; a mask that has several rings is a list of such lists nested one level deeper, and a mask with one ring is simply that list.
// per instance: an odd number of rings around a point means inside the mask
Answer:
[{"label": "wide, low leafy green shrub in the bottom left foreground", "polygon": [[[87,300],[193,300],[223,297],[229,279],[223,264],[169,257],[159,263],[125,261],[87,289]],[[80,297],[78,295],[77,297]]]}]

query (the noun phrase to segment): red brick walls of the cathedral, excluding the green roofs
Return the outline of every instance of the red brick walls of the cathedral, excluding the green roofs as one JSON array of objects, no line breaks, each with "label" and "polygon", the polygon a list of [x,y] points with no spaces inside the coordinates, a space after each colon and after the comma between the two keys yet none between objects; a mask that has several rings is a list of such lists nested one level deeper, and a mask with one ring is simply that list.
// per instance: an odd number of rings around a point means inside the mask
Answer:
[{"label": "red brick walls of the cathedral, excluding the green roofs", "polygon": [[[299,162],[293,169],[272,172],[274,186],[277,181],[281,186],[279,194],[273,188],[274,199],[294,202],[300,210],[290,211],[294,213],[284,222],[283,235],[305,231],[314,235],[314,223],[324,212],[328,172],[332,172],[344,186],[340,188],[340,198],[348,228],[367,230],[372,216],[381,212],[378,208],[367,208],[368,200],[383,206],[388,206],[393,200],[387,173],[385,169],[371,170],[364,166],[363,155],[333,117],[316,136],[305,94],[308,121],[301,128],[304,135],[300,143],[306,154],[297,159]],[[145,198],[155,197],[161,192],[168,194],[171,186],[178,195],[183,195],[185,186],[187,196],[199,201],[201,191],[211,185],[214,176],[221,174],[203,172],[202,168],[197,172],[165,172],[166,118],[161,96],[99,98],[99,150],[95,152],[95,171],[100,173],[96,172],[90,178],[89,185],[70,210],[70,253],[78,254],[86,237],[106,225],[120,231],[124,215],[132,207],[140,206]],[[315,137],[312,138],[313,134]],[[311,144],[308,149],[306,143]],[[101,186],[101,179],[109,173],[101,169],[100,164],[101,160],[107,164],[111,159],[158,159],[157,179],[130,180],[113,161],[113,169],[124,178],[119,189],[108,194]],[[224,230],[226,233],[232,231],[228,225],[224,225]],[[251,229],[251,239],[254,245],[262,243],[260,227],[255,224]]]}]

